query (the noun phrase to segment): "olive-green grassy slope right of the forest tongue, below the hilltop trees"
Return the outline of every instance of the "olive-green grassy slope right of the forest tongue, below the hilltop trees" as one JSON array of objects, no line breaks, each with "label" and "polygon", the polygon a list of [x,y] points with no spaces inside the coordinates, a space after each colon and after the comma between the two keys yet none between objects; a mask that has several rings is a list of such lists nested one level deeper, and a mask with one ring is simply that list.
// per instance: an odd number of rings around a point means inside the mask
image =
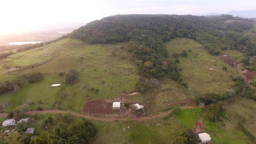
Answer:
[{"label": "olive-green grassy slope right of the forest tongue, below the hilltop trees", "polygon": [[[166,48],[172,56],[180,55],[187,50],[188,57],[179,57],[178,66],[181,74],[188,82],[189,90],[199,94],[207,92],[225,92],[231,89],[234,82],[230,75],[237,74],[235,69],[225,64],[218,56],[210,55],[201,44],[188,38],[175,38],[166,43]],[[191,52],[190,52],[191,51]],[[227,71],[222,70],[223,66]]]}]

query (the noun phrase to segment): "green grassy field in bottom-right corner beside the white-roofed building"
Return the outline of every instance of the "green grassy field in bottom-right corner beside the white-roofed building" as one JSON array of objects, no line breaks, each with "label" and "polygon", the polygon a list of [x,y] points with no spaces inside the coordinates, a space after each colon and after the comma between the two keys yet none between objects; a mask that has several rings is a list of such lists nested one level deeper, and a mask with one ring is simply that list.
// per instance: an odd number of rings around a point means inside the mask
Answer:
[{"label": "green grassy field in bottom-right corner beside the white-roofed building", "polygon": [[243,98],[234,101],[233,105],[225,108],[226,114],[221,122],[209,122],[204,119],[204,126],[207,128],[205,131],[209,133],[214,142],[228,144],[254,143],[241,129],[237,128],[237,124],[242,122],[251,134],[256,135],[255,101]]}]

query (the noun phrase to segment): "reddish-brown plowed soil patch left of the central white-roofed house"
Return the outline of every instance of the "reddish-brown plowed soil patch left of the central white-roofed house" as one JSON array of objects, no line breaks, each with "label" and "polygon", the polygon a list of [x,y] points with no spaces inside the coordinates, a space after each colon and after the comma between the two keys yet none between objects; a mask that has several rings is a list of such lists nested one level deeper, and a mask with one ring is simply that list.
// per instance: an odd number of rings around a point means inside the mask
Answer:
[{"label": "reddish-brown plowed soil patch left of the central white-roofed house", "polygon": [[118,114],[120,110],[114,110],[112,102],[99,101],[87,101],[82,107],[82,113],[88,114]]}]

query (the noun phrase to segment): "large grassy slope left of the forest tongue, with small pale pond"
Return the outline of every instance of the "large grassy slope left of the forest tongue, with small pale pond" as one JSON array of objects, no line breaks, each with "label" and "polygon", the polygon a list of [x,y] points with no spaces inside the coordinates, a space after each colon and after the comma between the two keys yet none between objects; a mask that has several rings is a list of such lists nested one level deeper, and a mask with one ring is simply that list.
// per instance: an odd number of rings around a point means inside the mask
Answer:
[{"label": "large grassy slope left of the forest tongue, with small pale pond", "polygon": [[[0,103],[6,105],[7,111],[27,101],[33,101],[31,110],[41,106],[47,109],[60,108],[80,112],[86,97],[101,100],[129,94],[135,89],[138,74],[132,53],[127,52],[128,49],[128,43],[89,45],[77,39],[63,39],[46,47],[32,49],[35,55],[42,58],[39,63],[33,61],[34,55],[29,50],[14,54],[7,59],[16,61],[17,65],[22,63],[25,67],[36,66],[1,74],[1,81],[12,80],[17,75],[32,71],[41,72],[45,76],[42,81],[23,86],[17,93],[1,95]],[[42,51],[49,52],[49,57],[44,57]],[[19,56],[22,57],[22,61],[18,64],[21,60]],[[70,69],[78,71],[79,81],[74,85],[65,85],[65,75],[58,74],[65,74]],[[57,83],[62,85],[49,87]],[[38,104],[39,100],[42,100],[41,105]]]}]

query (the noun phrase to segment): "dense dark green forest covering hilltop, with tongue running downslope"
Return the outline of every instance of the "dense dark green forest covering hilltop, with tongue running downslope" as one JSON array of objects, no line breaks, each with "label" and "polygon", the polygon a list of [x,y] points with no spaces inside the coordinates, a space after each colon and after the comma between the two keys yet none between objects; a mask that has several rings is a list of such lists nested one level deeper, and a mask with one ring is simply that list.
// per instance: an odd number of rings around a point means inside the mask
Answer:
[{"label": "dense dark green forest covering hilltop, with tongue running downslope", "polygon": [[256,55],[255,37],[245,35],[245,31],[255,33],[253,26],[252,20],[232,15],[115,15],[87,23],[68,37],[91,44],[130,41],[141,74],[158,78],[168,73],[182,83],[163,42],[185,37],[202,43],[213,55],[227,48]]}]

